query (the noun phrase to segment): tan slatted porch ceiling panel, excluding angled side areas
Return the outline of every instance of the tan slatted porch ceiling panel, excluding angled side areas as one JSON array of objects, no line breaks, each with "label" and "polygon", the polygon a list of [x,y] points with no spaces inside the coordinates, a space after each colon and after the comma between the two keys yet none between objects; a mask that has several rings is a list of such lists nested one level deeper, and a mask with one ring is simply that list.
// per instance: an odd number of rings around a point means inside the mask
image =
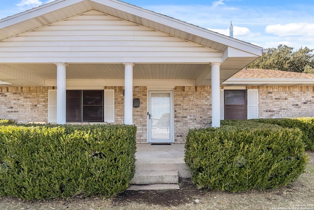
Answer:
[{"label": "tan slatted porch ceiling panel, excluding angled side areas", "polygon": [[[8,64],[26,74],[45,80],[56,79],[54,64]],[[133,79],[182,80],[195,79],[208,64],[135,64]],[[66,67],[67,79],[124,79],[123,64],[73,64]]]}]

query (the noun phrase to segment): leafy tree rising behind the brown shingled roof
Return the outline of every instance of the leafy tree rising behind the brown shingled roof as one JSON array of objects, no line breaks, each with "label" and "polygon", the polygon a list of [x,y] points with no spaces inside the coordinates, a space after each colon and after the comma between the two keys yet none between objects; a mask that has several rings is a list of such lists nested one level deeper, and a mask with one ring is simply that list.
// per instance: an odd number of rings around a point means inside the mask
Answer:
[{"label": "leafy tree rising behind the brown shingled roof", "polygon": [[292,47],[279,45],[277,48],[269,49],[268,53],[253,61],[247,67],[311,73],[313,72],[311,69],[314,69],[314,55],[312,52],[313,50],[307,47],[293,52]]}]

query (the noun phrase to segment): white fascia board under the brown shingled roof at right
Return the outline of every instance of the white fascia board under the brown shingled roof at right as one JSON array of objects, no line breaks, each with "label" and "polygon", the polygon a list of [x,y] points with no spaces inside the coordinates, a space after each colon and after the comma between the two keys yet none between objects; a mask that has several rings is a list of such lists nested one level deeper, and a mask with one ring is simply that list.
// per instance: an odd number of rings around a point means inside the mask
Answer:
[{"label": "white fascia board under the brown shingled roof at right", "polygon": [[261,79],[261,78],[253,78],[253,79],[243,79],[243,78],[229,78],[223,85],[228,84],[313,84],[314,79],[290,79],[290,78],[282,78],[282,79]]}]

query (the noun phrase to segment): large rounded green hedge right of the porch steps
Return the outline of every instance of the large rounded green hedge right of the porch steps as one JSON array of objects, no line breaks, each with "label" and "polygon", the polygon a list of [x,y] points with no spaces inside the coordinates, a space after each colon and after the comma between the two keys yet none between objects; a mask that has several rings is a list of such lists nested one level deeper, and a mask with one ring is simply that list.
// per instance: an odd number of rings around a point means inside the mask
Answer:
[{"label": "large rounded green hedge right of the porch steps", "polygon": [[184,160],[197,187],[273,189],[304,173],[308,156],[299,129],[241,120],[224,124],[189,130]]}]

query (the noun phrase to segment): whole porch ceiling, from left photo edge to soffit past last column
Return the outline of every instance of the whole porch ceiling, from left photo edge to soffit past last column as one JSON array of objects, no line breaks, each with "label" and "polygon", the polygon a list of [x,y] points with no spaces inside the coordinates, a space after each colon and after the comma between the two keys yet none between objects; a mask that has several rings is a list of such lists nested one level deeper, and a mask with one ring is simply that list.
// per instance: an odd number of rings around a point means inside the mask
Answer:
[{"label": "whole porch ceiling, from left photo edge to soffit past last column", "polygon": [[[232,76],[233,71],[222,71],[221,82]],[[206,75],[205,80],[202,75]],[[0,80],[11,83],[0,86],[45,86],[46,80],[56,80],[54,64],[0,64]],[[68,63],[67,80],[123,80],[123,64]],[[202,77],[202,84],[196,84]],[[143,64],[135,63],[134,80],[193,80],[196,86],[210,85],[210,64]],[[170,85],[170,84],[169,84]]]}]

